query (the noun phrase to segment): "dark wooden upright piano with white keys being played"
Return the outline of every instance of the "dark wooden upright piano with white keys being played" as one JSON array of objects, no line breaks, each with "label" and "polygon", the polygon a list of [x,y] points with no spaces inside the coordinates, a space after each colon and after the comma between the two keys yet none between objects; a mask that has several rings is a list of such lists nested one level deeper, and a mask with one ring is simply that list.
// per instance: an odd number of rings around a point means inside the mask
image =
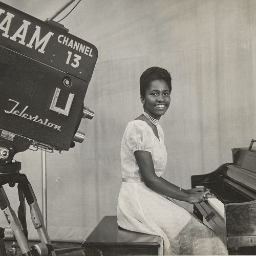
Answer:
[{"label": "dark wooden upright piano with white keys being played", "polygon": [[233,148],[232,163],[191,177],[192,187],[205,186],[216,198],[194,204],[194,214],[206,220],[229,254],[256,254],[256,147]]}]

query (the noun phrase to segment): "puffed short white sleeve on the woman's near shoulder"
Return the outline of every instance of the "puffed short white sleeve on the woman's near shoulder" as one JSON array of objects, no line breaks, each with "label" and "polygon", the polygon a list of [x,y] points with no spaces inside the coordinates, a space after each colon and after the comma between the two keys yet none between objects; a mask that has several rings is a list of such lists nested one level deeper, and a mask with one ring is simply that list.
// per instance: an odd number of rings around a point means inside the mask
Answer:
[{"label": "puffed short white sleeve on the woman's near shoulder", "polygon": [[151,127],[142,120],[130,122],[125,130],[124,142],[134,153],[135,151],[152,152],[153,141]]}]

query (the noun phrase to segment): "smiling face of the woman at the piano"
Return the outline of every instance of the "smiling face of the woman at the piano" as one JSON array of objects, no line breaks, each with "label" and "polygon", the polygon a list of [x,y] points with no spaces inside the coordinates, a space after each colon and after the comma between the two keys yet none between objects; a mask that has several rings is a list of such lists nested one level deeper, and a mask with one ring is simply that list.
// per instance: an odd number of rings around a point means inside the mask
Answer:
[{"label": "smiling face of the woman at the piano", "polygon": [[141,102],[144,105],[144,111],[159,120],[170,105],[170,93],[167,83],[164,80],[151,82],[150,87],[146,89],[145,98],[141,97]]}]

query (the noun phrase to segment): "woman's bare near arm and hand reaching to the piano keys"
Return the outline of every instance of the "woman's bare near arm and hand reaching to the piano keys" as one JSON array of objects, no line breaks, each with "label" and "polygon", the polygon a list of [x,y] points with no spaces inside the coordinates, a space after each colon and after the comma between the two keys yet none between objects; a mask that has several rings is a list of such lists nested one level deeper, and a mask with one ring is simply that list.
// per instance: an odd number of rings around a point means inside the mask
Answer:
[{"label": "woman's bare near arm and hand reaching to the piano keys", "polygon": [[206,196],[211,197],[209,191],[204,193],[199,193],[196,191],[194,193],[186,193],[180,190],[180,187],[176,186],[175,184],[158,177],[155,173],[154,163],[150,152],[135,151],[134,156],[138,163],[143,182],[147,187],[151,188],[157,193],[188,203],[202,202],[206,200]]}]

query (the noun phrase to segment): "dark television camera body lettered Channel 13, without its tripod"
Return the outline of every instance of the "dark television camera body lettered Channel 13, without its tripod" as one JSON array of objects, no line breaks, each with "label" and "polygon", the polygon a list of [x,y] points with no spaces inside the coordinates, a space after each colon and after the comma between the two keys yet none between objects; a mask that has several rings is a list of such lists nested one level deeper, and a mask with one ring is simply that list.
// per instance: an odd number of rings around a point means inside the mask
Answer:
[{"label": "dark television camera body lettered Channel 13, without its tripod", "polygon": [[0,138],[14,134],[68,151],[98,57],[95,46],[57,23],[45,23],[0,2]]}]

